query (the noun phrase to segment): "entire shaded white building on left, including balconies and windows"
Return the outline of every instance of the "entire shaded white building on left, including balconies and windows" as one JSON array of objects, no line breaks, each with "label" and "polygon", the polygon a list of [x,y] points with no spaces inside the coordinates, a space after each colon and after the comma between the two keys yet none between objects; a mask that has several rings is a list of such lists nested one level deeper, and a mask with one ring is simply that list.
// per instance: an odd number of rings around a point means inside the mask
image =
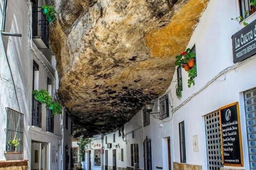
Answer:
[{"label": "entire shaded white building on left, including balconies and windows", "polygon": [[[49,23],[40,11],[42,5],[42,0],[0,1],[0,167],[7,169],[58,170],[67,164],[67,170],[71,166],[70,117],[65,112],[52,117],[45,105],[32,100],[33,90],[45,89],[55,98],[58,89],[56,60],[49,49]],[[8,144],[13,139],[19,142],[15,148]]]}]

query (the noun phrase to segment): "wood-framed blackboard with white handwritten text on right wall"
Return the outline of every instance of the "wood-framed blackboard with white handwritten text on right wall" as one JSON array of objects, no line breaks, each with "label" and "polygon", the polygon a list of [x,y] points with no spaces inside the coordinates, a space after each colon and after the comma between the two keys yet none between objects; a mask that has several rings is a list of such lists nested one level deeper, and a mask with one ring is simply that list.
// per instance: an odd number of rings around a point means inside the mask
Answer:
[{"label": "wood-framed blackboard with white handwritten text on right wall", "polygon": [[222,163],[243,166],[243,149],[238,102],[220,108]]}]

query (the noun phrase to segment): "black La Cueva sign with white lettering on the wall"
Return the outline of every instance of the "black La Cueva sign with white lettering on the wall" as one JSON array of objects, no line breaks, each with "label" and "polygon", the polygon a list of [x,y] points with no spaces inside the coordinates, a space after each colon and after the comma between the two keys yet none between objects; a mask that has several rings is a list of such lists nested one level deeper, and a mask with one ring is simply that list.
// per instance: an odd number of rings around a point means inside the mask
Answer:
[{"label": "black La Cueva sign with white lettering on the wall", "polygon": [[256,54],[256,20],[234,34],[231,39],[234,63]]}]

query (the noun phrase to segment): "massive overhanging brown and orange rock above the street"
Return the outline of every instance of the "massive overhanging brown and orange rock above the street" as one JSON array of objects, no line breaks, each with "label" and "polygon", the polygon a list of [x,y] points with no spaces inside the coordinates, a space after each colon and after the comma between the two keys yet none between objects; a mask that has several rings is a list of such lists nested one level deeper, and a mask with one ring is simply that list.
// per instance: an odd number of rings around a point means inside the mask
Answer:
[{"label": "massive overhanging brown and orange rock above the street", "polygon": [[77,135],[121,126],[163,94],[208,0],[54,0],[59,95]]}]

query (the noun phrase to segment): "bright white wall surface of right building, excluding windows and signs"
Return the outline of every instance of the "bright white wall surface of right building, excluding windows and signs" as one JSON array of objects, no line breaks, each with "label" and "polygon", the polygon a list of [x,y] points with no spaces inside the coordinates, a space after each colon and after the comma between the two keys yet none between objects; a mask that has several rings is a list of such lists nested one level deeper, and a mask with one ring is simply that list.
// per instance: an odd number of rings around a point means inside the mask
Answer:
[{"label": "bright white wall surface of right building, excluding windows and signs", "polygon": [[[143,143],[147,138],[151,140],[153,170],[176,170],[184,167],[209,170],[205,116],[218,111],[223,106],[238,102],[244,163],[239,167],[224,166],[222,168],[250,169],[244,92],[256,88],[256,56],[233,63],[231,37],[244,28],[243,23],[231,20],[237,16],[240,16],[239,1],[211,0],[209,2],[187,46],[192,48],[195,45],[196,48],[195,85],[188,88],[188,73],[182,69],[183,91],[182,98],[179,100],[175,93],[176,71],[170,87],[159,97],[160,99],[168,95],[169,117],[160,121],[159,118],[153,117],[157,114],[150,115],[150,124],[144,127],[143,113],[139,111],[124,125],[124,141],[120,142],[124,147],[126,146],[126,160],[120,165],[121,167],[145,169]],[[245,21],[250,24],[255,19],[254,13]],[[159,112],[161,109],[159,100],[152,102],[154,103],[152,112]],[[181,162],[179,123],[183,121],[186,160],[179,164]],[[133,131],[135,131],[134,138]],[[109,142],[113,143],[112,133],[103,135],[103,139],[105,136],[108,136]],[[169,157],[168,140],[170,141]],[[137,168],[134,164],[132,166],[131,160],[131,144],[136,143],[139,145],[139,167]],[[108,159],[111,166],[110,154]],[[193,167],[193,165],[198,166]]]}]

